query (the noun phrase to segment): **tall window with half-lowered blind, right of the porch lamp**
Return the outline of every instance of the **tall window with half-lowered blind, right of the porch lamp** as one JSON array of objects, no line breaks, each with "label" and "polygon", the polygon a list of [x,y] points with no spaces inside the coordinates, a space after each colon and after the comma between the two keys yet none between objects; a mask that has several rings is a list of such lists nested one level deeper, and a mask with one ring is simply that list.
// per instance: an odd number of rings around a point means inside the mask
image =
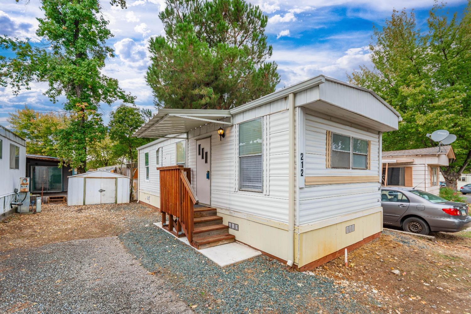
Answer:
[{"label": "tall window with half-lowered blind, right of the porch lamp", "polygon": [[239,124],[239,189],[262,192],[262,118]]}]

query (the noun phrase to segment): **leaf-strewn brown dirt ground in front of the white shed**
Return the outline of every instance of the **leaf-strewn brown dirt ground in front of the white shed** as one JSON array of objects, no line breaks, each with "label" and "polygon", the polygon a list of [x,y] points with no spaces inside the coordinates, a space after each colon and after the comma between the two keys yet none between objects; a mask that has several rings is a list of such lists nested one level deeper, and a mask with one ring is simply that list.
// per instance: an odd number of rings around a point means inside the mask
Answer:
[{"label": "leaf-strewn brown dirt ground in front of the white shed", "polygon": [[45,204],[41,213],[15,214],[0,222],[0,251],[115,236],[129,230],[130,219],[155,217],[155,213],[155,209],[136,202],[69,207]]}]

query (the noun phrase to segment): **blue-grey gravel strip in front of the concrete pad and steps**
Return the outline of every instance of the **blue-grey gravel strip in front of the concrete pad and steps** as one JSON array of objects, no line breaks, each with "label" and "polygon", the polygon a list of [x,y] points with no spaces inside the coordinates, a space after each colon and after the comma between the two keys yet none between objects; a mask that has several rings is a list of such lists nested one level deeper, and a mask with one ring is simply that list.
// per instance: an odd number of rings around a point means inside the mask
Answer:
[{"label": "blue-grey gravel strip in front of the concrete pad and steps", "polygon": [[152,225],[137,224],[119,237],[149,272],[169,278],[167,284],[197,313],[371,312],[354,300],[356,292],[345,293],[333,279],[296,272],[265,256],[221,268]]}]

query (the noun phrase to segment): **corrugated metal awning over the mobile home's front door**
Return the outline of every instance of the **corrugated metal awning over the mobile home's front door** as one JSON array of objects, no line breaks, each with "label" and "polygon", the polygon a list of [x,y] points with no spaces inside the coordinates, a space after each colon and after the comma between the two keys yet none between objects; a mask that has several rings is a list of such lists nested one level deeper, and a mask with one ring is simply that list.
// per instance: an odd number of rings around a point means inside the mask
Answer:
[{"label": "corrugated metal awning over the mobile home's front door", "polygon": [[[225,121],[222,121],[223,119]],[[178,136],[213,122],[232,125],[232,115],[229,110],[159,109],[133,136],[151,138]]]}]

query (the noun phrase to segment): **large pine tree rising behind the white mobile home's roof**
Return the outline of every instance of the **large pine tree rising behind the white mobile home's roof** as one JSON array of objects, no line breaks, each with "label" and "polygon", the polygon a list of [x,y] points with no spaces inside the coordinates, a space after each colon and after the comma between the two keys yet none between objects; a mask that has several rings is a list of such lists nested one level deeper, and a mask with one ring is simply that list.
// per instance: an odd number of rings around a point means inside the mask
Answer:
[{"label": "large pine tree rising behind the white mobile home's roof", "polygon": [[166,0],[165,36],[149,42],[158,107],[229,109],[275,91],[268,16],[244,0]]}]

